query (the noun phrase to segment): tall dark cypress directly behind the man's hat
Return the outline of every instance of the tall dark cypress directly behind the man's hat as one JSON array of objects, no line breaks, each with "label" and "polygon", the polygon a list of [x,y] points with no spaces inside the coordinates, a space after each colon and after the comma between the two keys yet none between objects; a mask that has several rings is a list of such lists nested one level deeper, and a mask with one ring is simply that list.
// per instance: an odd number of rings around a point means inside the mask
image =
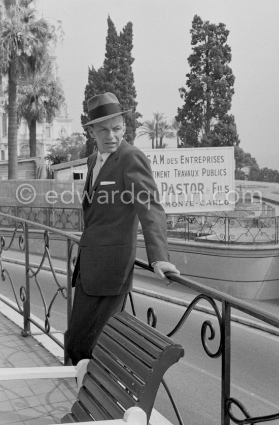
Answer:
[{"label": "tall dark cypress directly behind the man's hat", "polygon": [[[113,21],[110,16],[108,17],[108,35],[103,66],[97,71],[93,66],[89,68],[88,83],[85,87],[85,99],[83,102],[84,114],[81,116],[82,125],[88,123],[87,101],[92,96],[106,92],[114,93],[119,99],[123,110],[132,109],[131,115],[125,117],[125,138],[131,144],[135,138],[136,128],[139,126],[137,118],[142,116],[136,112],[136,90],[132,72],[134,59],[131,56],[132,38],[131,22],[127,23],[118,36]],[[89,155],[95,148],[95,142],[91,139],[86,128],[85,135],[87,138],[87,153]]]}]

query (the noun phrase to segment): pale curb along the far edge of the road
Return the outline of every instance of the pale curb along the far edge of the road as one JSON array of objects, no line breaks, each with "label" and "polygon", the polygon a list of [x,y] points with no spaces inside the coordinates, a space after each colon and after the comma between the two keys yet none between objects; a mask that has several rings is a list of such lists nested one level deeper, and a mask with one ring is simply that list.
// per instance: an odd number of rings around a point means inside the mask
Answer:
[{"label": "pale curb along the far edge of the road", "polygon": [[[14,259],[14,258],[3,257],[3,261],[14,263],[14,264],[19,264],[19,265],[25,265],[24,261]],[[30,262],[29,265],[31,267],[39,267],[38,263],[31,263]],[[42,269],[47,270],[47,271],[51,271],[51,267],[47,266],[47,265],[43,265]],[[62,275],[67,274],[67,271],[63,268],[53,267],[53,270],[56,273],[59,273],[59,274],[62,274]],[[156,291],[153,291],[153,290],[150,290],[150,289],[143,289],[143,288],[138,287],[138,286],[133,286],[133,292],[136,292],[136,293],[139,293],[139,294],[142,294],[142,295],[146,295],[146,296],[149,296],[149,297],[161,299],[163,301],[172,302],[172,303],[175,303],[177,305],[184,306],[186,308],[189,307],[189,305],[191,303],[191,301],[182,300],[181,298],[177,298],[177,297],[174,297],[174,296],[171,296],[171,295],[161,294],[160,292],[156,292]],[[200,311],[200,312],[203,312],[203,313],[207,313],[207,314],[211,314],[211,315],[215,315],[215,311],[211,307],[196,305],[194,307],[194,310],[197,310],[197,311]],[[231,314],[231,320],[234,321],[234,322],[240,323],[242,325],[250,326],[250,327],[253,327],[255,329],[259,329],[259,330],[263,330],[267,333],[271,333],[272,335],[279,336],[279,328],[268,325],[264,322],[260,322],[260,321],[253,320],[253,319],[250,319],[250,318],[238,316],[236,314]],[[56,331],[54,329],[54,332],[58,332],[58,331]],[[49,338],[48,338],[48,340],[49,340]],[[49,348],[47,348],[47,349],[49,350]],[[58,359],[61,361],[60,355],[58,356]]]}]

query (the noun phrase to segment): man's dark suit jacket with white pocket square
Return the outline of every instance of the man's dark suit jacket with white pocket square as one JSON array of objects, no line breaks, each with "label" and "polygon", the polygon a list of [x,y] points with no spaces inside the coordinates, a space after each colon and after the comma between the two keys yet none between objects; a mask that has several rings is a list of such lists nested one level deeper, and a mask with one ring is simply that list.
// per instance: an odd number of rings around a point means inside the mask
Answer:
[{"label": "man's dark suit jacket with white pocket square", "polygon": [[[87,192],[96,157],[94,153],[88,158]],[[150,163],[140,149],[123,139],[102,166],[93,190],[92,202],[87,197],[83,201],[78,261],[81,284],[88,295],[123,294],[132,286],[138,219],[149,263],[169,261],[165,213],[158,203]],[[78,267],[73,286],[77,272]]]}]

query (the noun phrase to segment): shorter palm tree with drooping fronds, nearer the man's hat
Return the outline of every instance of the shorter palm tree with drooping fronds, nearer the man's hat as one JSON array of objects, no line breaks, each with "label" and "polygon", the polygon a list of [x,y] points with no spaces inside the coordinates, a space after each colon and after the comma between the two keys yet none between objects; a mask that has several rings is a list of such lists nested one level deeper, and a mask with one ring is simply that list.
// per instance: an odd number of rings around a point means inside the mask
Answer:
[{"label": "shorter palm tree with drooping fronds, nearer the man's hat", "polygon": [[51,72],[46,54],[41,66],[18,85],[18,118],[25,118],[29,129],[30,157],[36,156],[37,123],[51,123],[64,102],[61,82]]}]

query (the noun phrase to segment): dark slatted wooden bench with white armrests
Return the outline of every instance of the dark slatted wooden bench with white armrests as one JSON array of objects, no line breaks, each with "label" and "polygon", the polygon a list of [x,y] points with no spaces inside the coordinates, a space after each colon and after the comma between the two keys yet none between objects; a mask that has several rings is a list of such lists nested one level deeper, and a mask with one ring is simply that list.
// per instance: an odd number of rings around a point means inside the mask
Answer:
[{"label": "dark slatted wooden bench with white armrests", "polygon": [[[26,375],[30,378],[46,377],[45,371],[40,376],[39,369],[51,369],[52,373],[61,369],[62,374],[63,369],[68,368],[70,376],[78,376],[78,400],[72,411],[63,416],[62,423],[121,419],[132,407],[141,408],[148,423],[164,373],[183,355],[181,345],[140,319],[121,312],[104,326],[91,359],[80,362],[79,372],[77,367],[34,368],[34,376],[29,372],[33,368],[21,369],[26,369],[26,372],[28,369],[24,379]],[[82,369],[84,371],[81,372]],[[8,374],[9,371],[6,371]],[[19,379],[19,373],[14,373],[14,379]],[[1,379],[7,378],[1,377],[0,369]]]}]

